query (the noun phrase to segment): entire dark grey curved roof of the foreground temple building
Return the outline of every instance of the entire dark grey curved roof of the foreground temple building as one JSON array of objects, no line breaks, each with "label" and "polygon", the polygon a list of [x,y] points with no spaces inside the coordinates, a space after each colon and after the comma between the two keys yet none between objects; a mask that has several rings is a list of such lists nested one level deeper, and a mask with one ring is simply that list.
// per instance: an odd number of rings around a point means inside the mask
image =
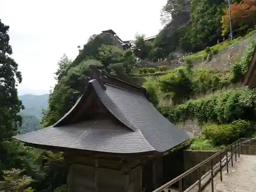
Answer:
[{"label": "entire dark grey curved roof of the foreground temple building", "polygon": [[[117,87],[118,83],[122,86]],[[109,153],[165,152],[189,139],[188,132],[169,122],[154,108],[143,88],[124,81],[118,83],[113,83],[115,86],[106,83],[104,90],[98,80],[90,80],[88,89],[65,117],[51,127],[15,138],[38,145]],[[92,89],[120,125],[111,120],[67,125]]]}]

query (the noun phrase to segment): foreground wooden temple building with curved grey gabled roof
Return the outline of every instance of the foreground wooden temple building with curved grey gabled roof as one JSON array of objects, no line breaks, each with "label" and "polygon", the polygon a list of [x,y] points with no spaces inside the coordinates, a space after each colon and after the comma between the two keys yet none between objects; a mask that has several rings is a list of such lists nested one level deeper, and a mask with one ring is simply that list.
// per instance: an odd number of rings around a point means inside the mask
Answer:
[{"label": "foreground wooden temple building with curved grey gabled roof", "polygon": [[14,138],[64,152],[71,192],[141,192],[163,184],[163,154],[190,137],[155,109],[144,88],[92,68],[84,93],[65,116]]}]

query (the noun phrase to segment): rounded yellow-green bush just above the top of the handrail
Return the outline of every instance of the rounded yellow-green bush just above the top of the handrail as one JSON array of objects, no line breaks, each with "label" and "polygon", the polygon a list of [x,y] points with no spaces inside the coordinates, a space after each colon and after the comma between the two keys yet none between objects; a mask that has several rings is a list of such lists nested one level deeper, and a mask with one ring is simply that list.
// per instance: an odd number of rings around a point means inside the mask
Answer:
[{"label": "rounded yellow-green bush just above the top of the handrail", "polygon": [[230,124],[207,124],[203,126],[206,139],[212,140],[215,145],[230,144],[243,137],[250,130],[250,123],[245,120],[233,121]]}]

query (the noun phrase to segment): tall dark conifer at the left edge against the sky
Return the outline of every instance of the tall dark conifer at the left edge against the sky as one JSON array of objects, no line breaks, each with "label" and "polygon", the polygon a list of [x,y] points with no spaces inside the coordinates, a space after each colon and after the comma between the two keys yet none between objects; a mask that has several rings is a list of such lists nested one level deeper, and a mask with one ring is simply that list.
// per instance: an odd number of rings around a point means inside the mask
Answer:
[{"label": "tall dark conifer at the left edge against the sky", "polygon": [[17,63],[10,57],[12,48],[8,30],[9,26],[0,20],[0,147],[2,142],[11,139],[22,123],[18,113],[23,105],[16,89],[17,83],[22,82],[22,76]]}]

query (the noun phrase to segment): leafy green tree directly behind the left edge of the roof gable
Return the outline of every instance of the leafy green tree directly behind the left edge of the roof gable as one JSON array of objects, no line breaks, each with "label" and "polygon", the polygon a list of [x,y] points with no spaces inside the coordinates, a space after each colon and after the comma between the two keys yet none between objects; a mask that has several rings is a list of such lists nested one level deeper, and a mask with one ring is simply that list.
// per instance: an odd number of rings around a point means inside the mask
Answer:
[{"label": "leafy green tree directly behind the left edge of the roof gable", "polygon": [[[73,65],[73,63],[71,64]],[[84,91],[85,79],[89,76],[90,65],[102,68],[100,61],[84,60],[77,66],[70,67],[49,95],[48,109],[44,112],[42,124],[50,126],[65,115]]]}]

